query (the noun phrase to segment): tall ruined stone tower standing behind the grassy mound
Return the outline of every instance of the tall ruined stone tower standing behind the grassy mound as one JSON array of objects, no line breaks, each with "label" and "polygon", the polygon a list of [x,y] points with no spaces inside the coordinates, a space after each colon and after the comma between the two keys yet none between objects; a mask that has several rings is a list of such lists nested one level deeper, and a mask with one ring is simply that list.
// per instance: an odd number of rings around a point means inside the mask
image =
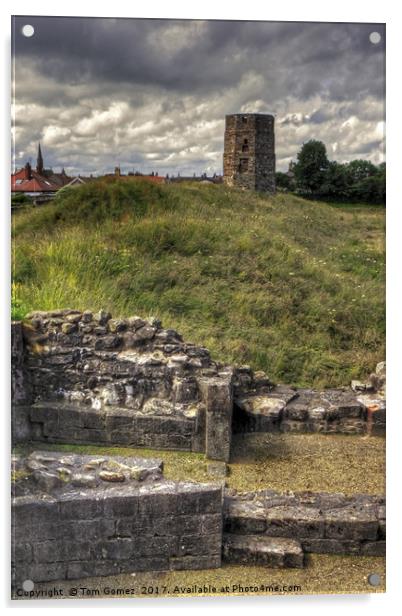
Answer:
[{"label": "tall ruined stone tower standing behind the grassy mound", "polygon": [[275,192],[274,116],[226,116],[223,180],[229,186]]}]

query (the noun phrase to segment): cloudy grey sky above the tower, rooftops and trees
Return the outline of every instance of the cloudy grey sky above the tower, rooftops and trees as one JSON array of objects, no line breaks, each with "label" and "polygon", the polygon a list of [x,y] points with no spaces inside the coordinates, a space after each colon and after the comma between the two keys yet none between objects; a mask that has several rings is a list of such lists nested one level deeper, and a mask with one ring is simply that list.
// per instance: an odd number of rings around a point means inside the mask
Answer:
[{"label": "cloudy grey sky above the tower, rooftops and trees", "polygon": [[278,170],[312,138],[385,159],[380,24],[17,17],[13,55],[16,167],[221,173],[239,112],[275,115]]}]

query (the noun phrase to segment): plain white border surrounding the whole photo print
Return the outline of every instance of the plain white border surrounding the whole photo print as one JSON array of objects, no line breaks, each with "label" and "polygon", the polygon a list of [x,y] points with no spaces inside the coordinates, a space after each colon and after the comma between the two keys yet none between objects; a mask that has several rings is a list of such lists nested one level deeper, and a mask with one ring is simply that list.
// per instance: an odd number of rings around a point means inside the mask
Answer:
[{"label": "plain white border surrounding the whole photo print", "polygon": [[[258,597],[258,598],[233,598],[227,599],[194,599],[194,600],[169,600],[150,602],[136,599],[134,601],[114,601],[102,599],[100,601],[91,600],[83,602],[70,601],[43,601],[43,602],[13,602],[8,600],[9,596],[9,553],[5,546],[9,542],[8,526],[3,525],[3,563],[1,581],[3,588],[1,598],[3,605],[8,609],[25,610],[29,608],[33,611],[43,608],[53,609],[67,608],[80,612],[83,609],[131,609],[137,613],[144,608],[149,611],[163,610],[164,612],[191,612],[239,611],[249,608],[258,613],[269,613],[269,611],[286,613],[287,611],[297,613],[320,613],[325,610],[326,614],[339,612],[348,614],[355,611],[364,612],[365,616],[375,614],[378,616],[380,610],[392,609],[392,604],[399,599],[399,586],[401,585],[400,558],[401,554],[401,502],[400,502],[400,473],[398,472],[398,454],[401,449],[399,441],[402,435],[402,408],[398,405],[397,387],[401,378],[398,368],[402,365],[398,341],[401,339],[401,317],[400,306],[402,297],[402,285],[400,276],[401,255],[399,245],[401,244],[401,216],[402,199],[400,196],[399,184],[401,177],[401,155],[400,155],[400,105],[402,96],[400,92],[400,77],[398,75],[398,64],[402,57],[402,39],[400,28],[402,20],[399,19],[400,12],[397,3],[393,0],[382,0],[381,2],[363,1],[351,2],[351,0],[337,0],[335,3],[324,3],[320,1],[304,0],[285,0],[283,3],[268,3],[266,1],[228,2],[223,0],[217,3],[216,0],[203,0],[197,4],[190,4],[188,1],[180,2],[177,0],[153,0],[150,3],[133,3],[128,0],[121,0],[117,3],[102,4],[91,1],[85,4],[78,0],[56,4],[54,0],[30,2],[6,1],[1,6],[0,27],[2,32],[1,44],[4,58],[1,65],[1,84],[3,86],[3,113],[1,115],[1,174],[3,178],[3,199],[0,207],[1,211],[1,272],[3,283],[0,322],[3,325],[2,336],[2,370],[1,391],[3,393],[3,405],[1,406],[3,419],[3,487],[8,490],[8,465],[9,465],[9,422],[8,422],[8,386],[9,386],[9,360],[8,360],[8,323],[9,323],[9,303],[6,290],[9,280],[9,168],[10,168],[10,141],[9,141],[9,48],[10,48],[10,16],[19,15],[70,15],[70,16],[111,16],[111,17],[165,17],[165,18],[202,18],[202,19],[255,19],[271,21],[338,21],[338,22],[387,22],[387,167],[388,167],[388,206],[387,206],[387,317],[388,317],[388,436],[387,436],[387,505],[388,505],[388,591],[385,595],[371,596],[304,596],[304,597]],[[399,157],[399,158],[398,158]],[[399,194],[398,194],[399,193]],[[400,368],[399,368],[400,373]],[[399,379],[398,379],[399,376]],[[369,469],[367,469],[369,472]],[[3,498],[3,503],[7,499]],[[391,505],[391,507],[389,506]],[[5,524],[8,524],[8,511],[4,511],[8,505],[3,505],[2,513]],[[399,519],[398,519],[399,518]],[[399,603],[399,601],[398,601]],[[397,604],[397,603],[396,603]]]}]

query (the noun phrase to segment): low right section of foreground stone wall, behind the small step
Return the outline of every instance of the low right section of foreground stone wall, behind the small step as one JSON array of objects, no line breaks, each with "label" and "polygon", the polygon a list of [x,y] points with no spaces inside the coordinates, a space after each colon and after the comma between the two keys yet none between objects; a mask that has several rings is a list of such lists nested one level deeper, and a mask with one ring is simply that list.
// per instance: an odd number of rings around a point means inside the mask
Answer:
[{"label": "low right section of foreground stone wall, behind the small step", "polygon": [[[247,553],[252,559],[255,545],[261,540],[264,545],[265,538],[297,541],[307,553],[383,556],[385,498],[280,494],[273,490],[232,492],[224,500],[224,532],[224,555],[231,562],[243,562]],[[240,543],[239,535],[243,537]]]}]

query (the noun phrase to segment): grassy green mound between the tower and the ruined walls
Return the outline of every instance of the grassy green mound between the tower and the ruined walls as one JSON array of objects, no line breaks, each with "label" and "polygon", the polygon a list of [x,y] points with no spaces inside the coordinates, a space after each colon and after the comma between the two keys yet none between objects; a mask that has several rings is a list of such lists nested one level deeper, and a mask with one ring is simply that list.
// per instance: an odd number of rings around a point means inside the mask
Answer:
[{"label": "grassy green mound between the tower and the ruined walls", "polygon": [[158,316],[294,385],[345,385],[385,356],[384,209],[223,185],[94,182],[13,215],[15,317]]}]

